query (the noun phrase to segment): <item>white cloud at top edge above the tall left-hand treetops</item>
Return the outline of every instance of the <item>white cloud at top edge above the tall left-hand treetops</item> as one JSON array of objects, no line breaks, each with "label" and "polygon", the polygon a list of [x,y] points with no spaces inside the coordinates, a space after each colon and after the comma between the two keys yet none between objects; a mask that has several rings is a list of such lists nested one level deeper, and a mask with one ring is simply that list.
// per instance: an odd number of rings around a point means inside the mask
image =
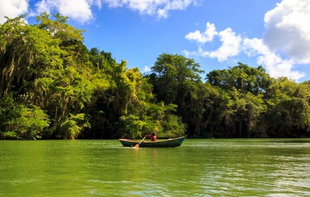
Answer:
[{"label": "white cloud at top edge above the tall left-hand treetops", "polygon": [[[98,1],[96,2],[98,6]],[[93,3],[92,0],[40,0],[36,3],[36,15],[41,12],[57,11],[73,20],[85,23],[93,19],[90,9]]]}]

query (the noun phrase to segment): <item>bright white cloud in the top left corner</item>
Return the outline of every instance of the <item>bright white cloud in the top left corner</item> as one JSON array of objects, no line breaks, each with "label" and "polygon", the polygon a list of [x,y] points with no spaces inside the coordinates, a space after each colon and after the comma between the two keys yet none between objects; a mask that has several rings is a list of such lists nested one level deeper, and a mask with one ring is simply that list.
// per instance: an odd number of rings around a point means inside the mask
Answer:
[{"label": "bright white cloud in the top left corner", "polygon": [[4,23],[4,16],[14,18],[28,11],[29,0],[0,0],[0,23]]}]

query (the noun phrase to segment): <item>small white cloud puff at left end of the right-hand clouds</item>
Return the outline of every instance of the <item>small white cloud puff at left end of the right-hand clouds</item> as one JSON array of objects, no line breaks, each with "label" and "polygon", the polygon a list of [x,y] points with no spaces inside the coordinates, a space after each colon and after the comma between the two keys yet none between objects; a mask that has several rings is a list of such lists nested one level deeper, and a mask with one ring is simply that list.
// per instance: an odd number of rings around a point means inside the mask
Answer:
[{"label": "small white cloud puff at left end of the right-hand clouds", "polygon": [[186,34],[185,38],[203,44],[205,42],[212,41],[213,37],[218,34],[219,33],[216,31],[215,25],[207,22],[205,32],[200,33],[199,30],[196,30],[195,32]]}]

